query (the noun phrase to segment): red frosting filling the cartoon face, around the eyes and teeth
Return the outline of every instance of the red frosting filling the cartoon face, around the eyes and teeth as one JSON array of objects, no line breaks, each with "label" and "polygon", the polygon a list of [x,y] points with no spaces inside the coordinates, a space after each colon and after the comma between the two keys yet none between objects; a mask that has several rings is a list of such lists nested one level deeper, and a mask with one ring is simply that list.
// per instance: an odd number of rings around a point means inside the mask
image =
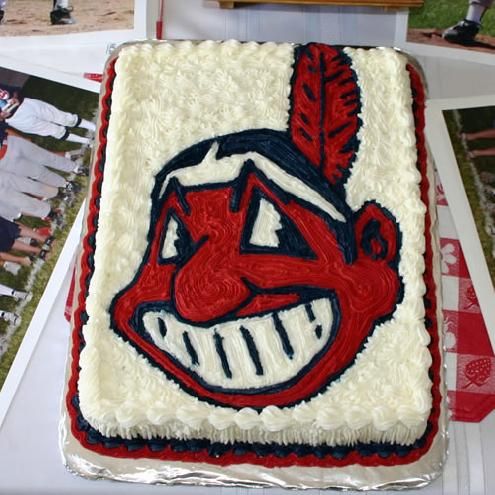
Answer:
[{"label": "red frosting filling the cartoon face, around the eyes and teeth", "polygon": [[[253,191],[262,191],[282,214],[292,219],[296,227],[304,232],[305,240],[315,255],[313,259],[240,252],[240,238]],[[361,245],[362,229],[373,219],[379,222],[380,235],[387,249],[381,259],[373,259],[373,253],[367,255],[359,249],[355,262],[348,264],[334,232],[319,215],[295,201],[284,204],[255,176],[247,180],[242,201],[235,212],[228,207],[230,197],[229,188],[189,192],[187,214],[175,194],[168,197],[154,225],[149,258],[138,271],[133,285],[116,299],[111,312],[115,328],[151,357],[153,363],[166,371],[169,377],[200,399],[210,399],[216,404],[235,408],[294,404],[316,395],[332,377],[349,366],[370,329],[374,328],[374,322],[393,312],[400,291],[396,269],[389,266],[398,249],[396,225],[379,207],[366,205],[356,223],[357,245]],[[170,211],[176,212],[193,239],[205,239],[187,263],[179,266],[173,262],[159,262],[163,226]],[[256,291],[268,293],[258,296],[250,286],[256,286]],[[269,391],[254,393],[251,390],[249,394],[242,394],[204,386],[189,369],[174,362],[133,327],[132,317],[137,304],[164,301],[177,308],[186,321],[202,323],[223,317],[238,308],[242,309],[244,316],[257,316],[261,305],[269,310],[284,309],[289,296],[299,302],[299,297],[303,297],[308,286],[313,290],[319,289],[323,294],[327,291],[334,294],[338,304],[338,309],[335,309],[338,314],[334,318],[339,319],[336,335],[311,369],[298,379],[293,379],[290,386],[273,387]],[[288,287],[293,291],[290,294],[276,292]],[[243,303],[250,304],[251,313]],[[190,331],[191,334],[193,332]]]}]

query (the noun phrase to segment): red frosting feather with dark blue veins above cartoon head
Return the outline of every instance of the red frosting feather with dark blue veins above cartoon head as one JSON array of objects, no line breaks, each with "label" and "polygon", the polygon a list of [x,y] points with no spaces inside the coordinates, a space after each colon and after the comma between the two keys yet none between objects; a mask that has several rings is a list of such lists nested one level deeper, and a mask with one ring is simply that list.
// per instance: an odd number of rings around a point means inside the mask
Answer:
[{"label": "red frosting feather with dark blue veins above cartoon head", "polygon": [[342,50],[311,43],[296,51],[290,134],[332,184],[346,177],[359,146],[359,96],[356,76]]}]

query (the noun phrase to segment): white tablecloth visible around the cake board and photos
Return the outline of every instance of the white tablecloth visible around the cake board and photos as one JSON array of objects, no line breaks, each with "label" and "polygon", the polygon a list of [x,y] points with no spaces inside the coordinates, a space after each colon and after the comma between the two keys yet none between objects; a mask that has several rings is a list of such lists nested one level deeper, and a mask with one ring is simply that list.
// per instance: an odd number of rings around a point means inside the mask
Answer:
[{"label": "white tablecloth visible around the cake board and photos", "polygon": [[[156,0],[150,0],[150,4]],[[393,45],[396,15],[370,9],[267,8],[218,11],[215,2],[168,0],[166,35],[193,39],[273,39],[304,42],[310,40],[337,44]],[[57,68],[73,74],[101,71],[104,46],[68,48],[66,57],[58,57]],[[53,67],[54,48],[25,52],[25,58]],[[21,50],[22,51],[22,50]],[[73,53],[78,51],[83,66],[74,68]],[[24,53],[24,52],[22,52]],[[17,54],[18,55],[18,54]],[[420,57],[425,69],[430,96],[456,97],[490,94],[495,91],[495,67],[459,60]],[[255,495],[262,489],[143,486],[109,481],[89,481],[68,473],[58,446],[58,418],[65,376],[69,325],[63,317],[69,287],[69,268],[56,295],[48,320],[0,427],[0,494],[244,494]],[[31,331],[31,330],[30,330]],[[449,427],[449,457],[443,477],[421,494],[493,494],[495,470],[495,414],[481,423],[452,423]],[[491,462],[490,462],[491,460]],[[264,492],[264,490],[263,490]],[[270,494],[288,493],[271,489]],[[306,492],[317,493],[316,490]]]}]

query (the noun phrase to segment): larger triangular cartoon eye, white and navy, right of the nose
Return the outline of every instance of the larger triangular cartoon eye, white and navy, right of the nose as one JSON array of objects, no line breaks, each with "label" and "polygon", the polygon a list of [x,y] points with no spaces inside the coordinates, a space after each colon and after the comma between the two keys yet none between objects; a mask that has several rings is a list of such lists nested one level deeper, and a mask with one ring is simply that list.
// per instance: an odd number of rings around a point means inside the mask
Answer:
[{"label": "larger triangular cartoon eye, white and navy, right of the nose", "polygon": [[249,206],[241,250],[316,257],[294,222],[259,191],[253,193]]}]

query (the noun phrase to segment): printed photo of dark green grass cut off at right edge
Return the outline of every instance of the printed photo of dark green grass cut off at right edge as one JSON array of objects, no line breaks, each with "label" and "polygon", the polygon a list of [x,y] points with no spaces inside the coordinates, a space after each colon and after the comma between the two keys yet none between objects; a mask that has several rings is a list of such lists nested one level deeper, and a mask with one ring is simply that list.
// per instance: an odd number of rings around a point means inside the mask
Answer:
[{"label": "printed photo of dark green grass cut off at right edge", "polygon": [[446,110],[443,116],[495,286],[495,106]]}]

